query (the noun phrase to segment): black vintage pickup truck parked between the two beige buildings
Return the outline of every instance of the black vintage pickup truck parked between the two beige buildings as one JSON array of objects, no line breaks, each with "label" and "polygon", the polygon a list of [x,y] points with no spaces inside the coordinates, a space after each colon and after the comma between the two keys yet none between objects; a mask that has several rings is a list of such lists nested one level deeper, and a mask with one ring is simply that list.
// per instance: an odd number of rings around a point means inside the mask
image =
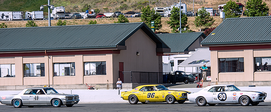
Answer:
[{"label": "black vintage pickup truck parked between the two beige buildings", "polygon": [[187,75],[183,71],[175,71],[174,74],[169,74],[167,77],[167,83],[177,83],[177,82],[194,82],[195,78],[193,75]]}]

